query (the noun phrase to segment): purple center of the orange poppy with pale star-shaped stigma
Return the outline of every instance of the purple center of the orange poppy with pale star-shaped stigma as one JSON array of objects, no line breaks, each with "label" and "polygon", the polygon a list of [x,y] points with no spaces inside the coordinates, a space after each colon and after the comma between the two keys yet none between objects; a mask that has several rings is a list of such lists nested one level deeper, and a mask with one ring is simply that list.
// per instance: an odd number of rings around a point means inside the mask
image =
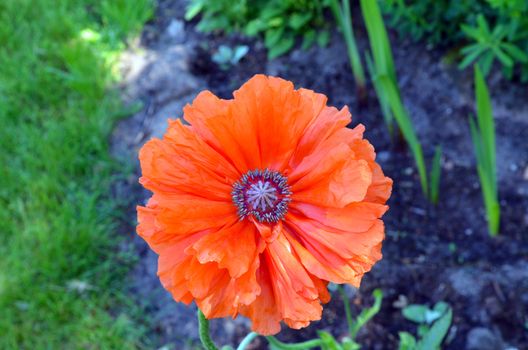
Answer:
[{"label": "purple center of the orange poppy with pale star-shaped stigma", "polygon": [[274,170],[251,170],[233,185],[233,203],[240,220],[253,215],[259,222],[277,222],[291,201],[288,179]]}]

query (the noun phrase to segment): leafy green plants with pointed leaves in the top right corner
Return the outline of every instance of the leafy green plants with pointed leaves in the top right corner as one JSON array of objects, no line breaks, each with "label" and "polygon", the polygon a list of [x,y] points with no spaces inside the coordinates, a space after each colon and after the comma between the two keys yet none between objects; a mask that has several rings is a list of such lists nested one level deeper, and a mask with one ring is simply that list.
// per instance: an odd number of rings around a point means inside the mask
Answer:
[{"label": "leafy green plants with pointed leaves in the top right corner", "polygon": [[528,1],[383,0],[389,24],[414,40],[461,50],[460,68],[478,62],[487,75],[495,60],[506,77],[520,66],[528,80]]}]

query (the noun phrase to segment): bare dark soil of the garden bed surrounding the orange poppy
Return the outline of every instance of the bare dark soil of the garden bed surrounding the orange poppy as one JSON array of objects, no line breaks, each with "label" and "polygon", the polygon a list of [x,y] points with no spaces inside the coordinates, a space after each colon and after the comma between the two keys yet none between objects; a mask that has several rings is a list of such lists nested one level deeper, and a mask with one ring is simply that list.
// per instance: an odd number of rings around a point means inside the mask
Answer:
[{"label": "bare dark soil of the garden bed surrounding the orange poppy", "polygon": [[[130,71],[135,71],[134,78],[125,80],[125,100],[147,103],[116,129],[113,138],[116,156],[124,161],[136,159],[140,145],[151,136],[160,136],[166,118],[181,115],[183,105],[205,87],[220,97],[231,98],[232,91],[251,76],[266,73],[324,93],[331,105],[350,107],[351,126],[358,123],[366,126],[366,138],[374,144],[386,175],[394,180],[390,210],[384,216],[387,227],[384,258],[364,277],[359,290],[350,290],[355,314],[372,303],[373,289],[381,288],[384,293],[382,309],[360,332],[359,343],[364,349],[397,349],[398,332],[416,334],[416,325],[401,315],[402,305],[432,306],[443,300],[453,308],[454,315],[445,349],[475,346],[528,349],[526,85],[506,81],[500,72],[493,72],[488,78],[497,129],[502,208],[500,234],[492,238],[487,232],[468,125],[468,115],[474,113],[472,72],[461,72],[456,65],[446,62],[446,52],[428,49],[424,44],[411,43],[391,33],[401,94],[426,159],[432,158],[436,145],[443,147],[440,200],[433,206],[422,195],[405,143],[398,135],[390,136],[371,86],[367,87],[366,101],[358,103],[339,33],[333,34],[325,48],[296,49],[268,61],[261,41],[198,33],[194,22],[183,22],[184,4],[182,0],[160,1],[156,18],[144,30],[141,50],[132,50],[133,59],[124,61],[128,72],[125,76],[130,77]],[[354,23],[363,51],[368,48],[367,36],[360,18]],[[250,50],[238,65],[222,70],[212,62],[211,56],[220,45],[240,44],[248,45]],[[182,54],[174,59],[178,50]],[[142,63],[138,64],[137,57],[147,58],[139,59]],[[156,78],[155,74],[152,77],[153,67],[159,66],[164,57],[169,57],[165,61],[173,65],[175,61],[181,62],[180,66],[169,65],[162,72],[168,74],[168,80]],[[187,88],[163,97],[167,89],[181,90],[182,85]],[[135,169],[135,176],[116,185],[116,191],[128,194],[131,217],[135,215],[134,205],[148,196],[135,182],[137,164]],[[131,235],[133,228],[128,228]],[[191,348],[197,340],[194,310],[170,299],[157,280],[155,255],[140,239],[134,238],[133,242],[139,263],[130,277],[130,289],[150,316],[153,327],[150,342],[155,347]],[[235,345],[247,327],[248,323],[240,318],[213,322],[213,336],[218,343]],[[318,329],[328,330],[336,337],[346,335],[342,301],[337,295],[325,307],[320,322],[301,331],[285,329],[279,338],[310,339]],[[488,338],[479,338],[483,332]],[[265,348],[262,340],[252,347]]]}]

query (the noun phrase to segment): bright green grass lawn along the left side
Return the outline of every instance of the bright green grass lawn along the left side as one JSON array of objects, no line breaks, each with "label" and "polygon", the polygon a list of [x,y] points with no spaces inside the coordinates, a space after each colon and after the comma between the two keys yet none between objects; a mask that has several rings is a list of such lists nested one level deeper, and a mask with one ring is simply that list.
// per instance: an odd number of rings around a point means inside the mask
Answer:
[{"label": "bright green grass lawn along the left side", "polygon": [[0,3],[0,348],[141,345],[122,292],[118,168],[108,138],[123,108],[109,86],[147,0]]}]

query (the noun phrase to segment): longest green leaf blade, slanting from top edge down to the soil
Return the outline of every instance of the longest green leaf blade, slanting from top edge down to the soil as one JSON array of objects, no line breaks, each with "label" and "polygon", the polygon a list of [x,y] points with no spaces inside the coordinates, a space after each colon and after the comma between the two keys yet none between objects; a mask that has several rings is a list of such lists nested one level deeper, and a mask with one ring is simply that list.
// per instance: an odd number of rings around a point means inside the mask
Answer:
[{"label": "longest green leaf blade, slanting from top edge down to the soil", "polygon": [[422,145],[418,141],[411,118],[401,99],[392,50],[379,6],[376,1],[370,0],[361,0],[360,4],[373,55],[371,57],[367,53],[367,67],[378,95],[385,122],[389,127],[389,131],[392,132],[393,120],[396,120],[413,154],[420,176],[422,192],[430,201],[435,203],[438,200],[440,151],[437,148],[430,173],[431,187],[429,187]]}]

